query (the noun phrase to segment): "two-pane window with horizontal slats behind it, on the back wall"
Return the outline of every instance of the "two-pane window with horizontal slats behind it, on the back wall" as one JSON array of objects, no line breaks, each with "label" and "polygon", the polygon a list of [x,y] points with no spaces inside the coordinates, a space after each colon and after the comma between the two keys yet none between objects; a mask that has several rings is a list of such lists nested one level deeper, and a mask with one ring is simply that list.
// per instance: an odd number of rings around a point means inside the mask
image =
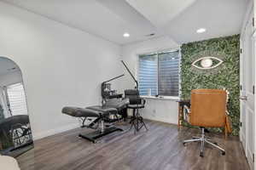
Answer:
[{"label": "two-pane window with horizontal slats behind it, on the back wall", "polygon": [[139,55],[141,95],[179,95],[179,51]]}]

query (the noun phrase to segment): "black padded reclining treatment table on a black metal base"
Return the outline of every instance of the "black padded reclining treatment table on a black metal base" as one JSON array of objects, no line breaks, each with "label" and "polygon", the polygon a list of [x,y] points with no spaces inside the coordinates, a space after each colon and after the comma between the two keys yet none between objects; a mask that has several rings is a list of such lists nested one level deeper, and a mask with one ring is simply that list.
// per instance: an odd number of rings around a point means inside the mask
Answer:
[{"label": "black padded reclining treatment table on a black metal base", "polygon": [[118,127],[106,126],[105,123],[117,122],[120,119],[119,116],[124,118],[127,105],[129,105],[129,99],[109,99],[104,105],[86,108],[64,107],[62,113],[68,116],[79,117],[82,120],[81,127],[96,129],[96,131],[91,133],[79,134],[79,137],[96,143],[96,139],[102,136],[116,131],[123,131],[123,129]]}]

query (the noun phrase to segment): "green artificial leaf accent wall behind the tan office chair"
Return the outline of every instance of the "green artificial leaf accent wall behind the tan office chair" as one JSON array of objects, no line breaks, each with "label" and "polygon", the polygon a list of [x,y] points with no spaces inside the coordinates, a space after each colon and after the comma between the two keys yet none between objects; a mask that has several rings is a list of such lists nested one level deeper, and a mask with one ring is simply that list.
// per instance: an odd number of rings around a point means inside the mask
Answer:
[{"label": "green artificial leaf accent wall behind the tan office chair", "polygon": [[[228,110],[232,120],[233,135],[239,134],[239,39],[240,35],[218,37],[201,42],[189,42],[181,47],[181,94],[189,99],[190,91],[195,88],[226,88],[230,92]],[[202,54],[218,55],[224,61],[218,68],[195,71],[192,63]],[[213,128],[221,132],[223,129]]]}]

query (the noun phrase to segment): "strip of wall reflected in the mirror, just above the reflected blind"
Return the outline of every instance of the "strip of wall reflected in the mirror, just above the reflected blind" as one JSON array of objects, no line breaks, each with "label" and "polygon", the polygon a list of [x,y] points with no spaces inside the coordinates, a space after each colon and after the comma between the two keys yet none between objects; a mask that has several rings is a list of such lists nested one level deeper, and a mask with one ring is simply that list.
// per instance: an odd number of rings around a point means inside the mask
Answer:
[{"label": "strip of wall reflected in the mirror, just above the reflected blind", "polygon": [[[1,62],[1,61],[0,61]],[[22,82],[20,71],[9,72],[5,75],[0,75],[0,86],[9,86],[11,84]]]}]

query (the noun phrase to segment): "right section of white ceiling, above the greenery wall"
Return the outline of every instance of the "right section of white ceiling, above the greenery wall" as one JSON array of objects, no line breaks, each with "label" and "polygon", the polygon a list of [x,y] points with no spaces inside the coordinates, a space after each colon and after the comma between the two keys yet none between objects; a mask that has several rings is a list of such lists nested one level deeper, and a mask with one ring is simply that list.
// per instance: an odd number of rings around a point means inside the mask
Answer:
[{"label": "right section of white ceiling, above the greenery wall", "polygon": [[[164,31],[177,43],[241,33],[247,0],[197,0],[175,17]],[[206,28],[202,34],[199,28]]]}]

